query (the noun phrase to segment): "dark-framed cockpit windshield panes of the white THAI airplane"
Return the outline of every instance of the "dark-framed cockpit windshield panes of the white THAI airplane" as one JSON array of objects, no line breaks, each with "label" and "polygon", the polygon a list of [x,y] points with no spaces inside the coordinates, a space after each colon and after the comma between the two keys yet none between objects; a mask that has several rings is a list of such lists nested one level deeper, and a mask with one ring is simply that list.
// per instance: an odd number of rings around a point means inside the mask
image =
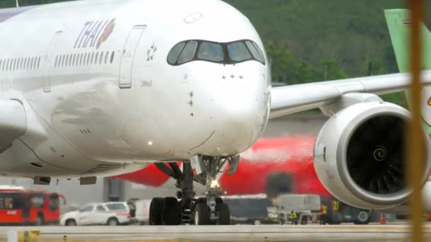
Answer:
[{"label": "dark-framed cockpit windshield panes of the white THAI airplane", "polygon": [[172,65],[198,60],[220,64],[237,64],[254,60],[265,64],[262,50],[252,40],[228,43],[187,40],[172,47],[167,56],[167,62]]}]

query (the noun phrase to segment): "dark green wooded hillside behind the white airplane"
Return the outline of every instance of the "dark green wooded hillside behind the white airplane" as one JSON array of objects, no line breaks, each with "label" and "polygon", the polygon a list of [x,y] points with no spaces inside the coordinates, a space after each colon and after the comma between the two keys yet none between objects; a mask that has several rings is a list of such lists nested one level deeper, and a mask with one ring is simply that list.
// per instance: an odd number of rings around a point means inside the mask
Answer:
[{"label": "dark green wooded hillside behind the white airplane", "polygon": [[377,60],[385,72],[397,71],[384,9],[404,8],[404,0],[226,1],[250,18],[264,42],[285,45],[315,66],[335,59],[349,75],[362,76],[364,64]]}]

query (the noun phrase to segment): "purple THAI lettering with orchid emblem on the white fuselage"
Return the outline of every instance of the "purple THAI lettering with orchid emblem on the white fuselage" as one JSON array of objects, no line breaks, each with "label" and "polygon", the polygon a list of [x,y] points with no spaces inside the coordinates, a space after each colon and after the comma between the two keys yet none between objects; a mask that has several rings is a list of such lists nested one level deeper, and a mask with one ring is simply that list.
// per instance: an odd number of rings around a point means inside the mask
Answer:
[{"label": "purple THAI lettering with orchid emblem on the white fuselage", "polygon": [[115,21],[116,18],[111,21],[87,21],[75,41],[74,48],[96,47],[99,49],[113,32],[113,28],[116,26]]}]

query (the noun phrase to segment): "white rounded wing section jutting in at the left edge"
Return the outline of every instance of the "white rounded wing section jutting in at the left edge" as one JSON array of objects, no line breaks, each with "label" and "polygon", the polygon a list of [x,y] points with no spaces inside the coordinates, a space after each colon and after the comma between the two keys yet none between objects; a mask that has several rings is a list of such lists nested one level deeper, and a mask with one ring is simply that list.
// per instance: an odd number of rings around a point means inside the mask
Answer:
[{"label": "white rounded wing section jutting in at the left edge", "polygon": [[26,132],[27,118],[23,104],[18,100],[0,100],[0,153],[13,140]]}]

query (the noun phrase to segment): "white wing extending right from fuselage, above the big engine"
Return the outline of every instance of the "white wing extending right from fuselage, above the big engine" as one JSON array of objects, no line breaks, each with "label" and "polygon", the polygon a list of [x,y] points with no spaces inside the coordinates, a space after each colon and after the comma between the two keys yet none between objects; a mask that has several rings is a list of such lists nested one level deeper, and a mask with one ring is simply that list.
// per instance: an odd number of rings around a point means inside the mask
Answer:
[{"label": "white wing extending right from fuselage, above the big engine", "polygon": [[[327,105],[346,93],[384,94],[410,86],[410,74],[367,76],[272,88],[270,118]],[[422,71],[422,83],[431,85],[431,71]]]}]

